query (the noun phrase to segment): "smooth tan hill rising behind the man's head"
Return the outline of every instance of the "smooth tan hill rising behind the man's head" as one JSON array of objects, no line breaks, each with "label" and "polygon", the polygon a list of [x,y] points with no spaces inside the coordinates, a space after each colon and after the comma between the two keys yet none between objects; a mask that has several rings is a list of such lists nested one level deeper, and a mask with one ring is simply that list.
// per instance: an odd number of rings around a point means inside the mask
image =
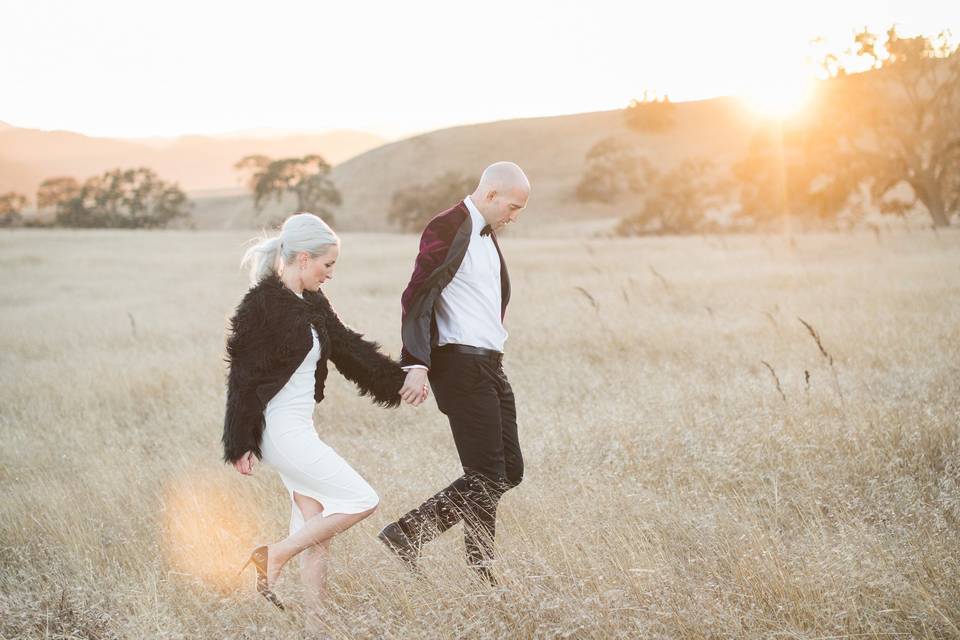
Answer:
[{"label": "smooth tan hill rising behind the man's head", "polygon": [[[387,212],[397,189],[451,170],[479,178],[491,162],[513,160],[529,175],[533,193],[523,224],[512,233],[533,234],[555,229],[557,223],[568,230],[573,223],[589,230],[597,221],[632,213],[633,206],[584,205],[574,197],[584,155],[598,141],[625,138],[660,168],[705,156],[725,169],[741,156],[756,127],[755,116],[733,98],[677,103],[675,116],[674,125],[662,133],[633,132],[622,111],[603,111],[453,127],[385,144],[334,167],[333,179],[343,195],[334,225],[349,231],[391,230]],[[243,194],[195,203],[201,228],[242,227],[256,220],[250,198]],[[292,201],[272,205],[261,219],[281,216],[293,206]]]}]

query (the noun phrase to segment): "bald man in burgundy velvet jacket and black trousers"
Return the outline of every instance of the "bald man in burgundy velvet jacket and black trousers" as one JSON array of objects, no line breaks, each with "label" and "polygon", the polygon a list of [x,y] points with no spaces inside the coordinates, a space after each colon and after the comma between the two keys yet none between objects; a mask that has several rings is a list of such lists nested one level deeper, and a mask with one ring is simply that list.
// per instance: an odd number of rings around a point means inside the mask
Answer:
[{"label": "bald man in burgundy velvet jacket and black trousers", "polygon": [[380,532],[413,569],[423,544],[463,520],[467,563],[496,584],[497,504],[523,479],[517,411],[503,371],[510,278],[496,232],[517,221],[529,197],[520,167],[487,167],[472,194],[427,224],[401,298],[407,378],[400,393],[419,404],[429,377],[463,466],[450,486]]}]

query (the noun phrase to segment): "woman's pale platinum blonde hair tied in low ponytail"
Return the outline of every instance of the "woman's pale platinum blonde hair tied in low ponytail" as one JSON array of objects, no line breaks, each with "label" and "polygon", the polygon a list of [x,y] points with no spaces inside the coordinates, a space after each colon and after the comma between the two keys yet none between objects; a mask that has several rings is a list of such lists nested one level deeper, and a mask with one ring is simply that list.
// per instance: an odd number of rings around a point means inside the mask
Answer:
[{"label": "woman's pale platinum blonde hair tied in low ponytail", "polygon": [[312,213],[295,213],[283,221],[278,235],[262,238],[247,249],[240,267],[250,269],[250,282],[256,284],[277,274],[281,263],[293,263],[301,251],[316,258],[332,245],[339,246],[340,238],[326,222]]}]

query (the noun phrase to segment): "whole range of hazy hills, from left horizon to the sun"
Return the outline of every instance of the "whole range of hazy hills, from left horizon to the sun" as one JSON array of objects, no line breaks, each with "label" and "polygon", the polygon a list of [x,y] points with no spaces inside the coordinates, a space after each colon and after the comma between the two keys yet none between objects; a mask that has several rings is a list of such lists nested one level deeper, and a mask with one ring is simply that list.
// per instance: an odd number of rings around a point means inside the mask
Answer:
[{"label": "whole range of hazy hills, from left horizon to the sun", "polygon": [[675,106],[674,124],[657,133],[628,129],[623,112],[616,110],[465,125],[381,146],[376,146],[374,136],[356,132],[273,140],[195,136],[157,146],[67,132],[0,129],[0,190],[35,184],[50,175],[87,176],[112,166],[141,164],[191,192],[197,228],[257,228],[292,212],[295,202],[289,198],[271,203],[258,215],[238,185],[233,162],[249,153],[280,156],[319,150],[331,162],[342,160],[332,171],[343,196],[343,204],[334,211],[334,226],[344,231],[392,231],[387,213],[398,189],[447,171],[478,178],[491,162],[513,160],[529,175],[533,191],[524,223],[511,233],[564,229],[562,234],[568,235],[609,226],[638,206],[629,200],[618,205],[583,204],[574,197],[584,155],[598,141],[617,136],[661,169],[701,156],[723,170],[743,153],[757,126],[757,119],[734,98]]}]

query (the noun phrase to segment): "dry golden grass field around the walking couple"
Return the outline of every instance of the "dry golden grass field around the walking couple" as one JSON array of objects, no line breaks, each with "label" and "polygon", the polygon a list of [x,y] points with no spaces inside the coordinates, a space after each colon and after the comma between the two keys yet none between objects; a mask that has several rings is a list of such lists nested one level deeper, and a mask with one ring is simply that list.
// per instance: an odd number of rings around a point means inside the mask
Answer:
[{"label": "dry golden grass field around the walking couple", "polygon": [[[220,462],[246,239],[0,234],[3,638],[304,636],[236,575],[289,518],[273,471]],[[960,636],[960,233],[504,244],[527,471],[502,588],[459,528],[425,580],[380,548],[453,442],[432,399],[332,372],[318,430],[382,502],[334,542],[330,637]],[[346,235],[327,287],[394,355],[415,247]]]}]

